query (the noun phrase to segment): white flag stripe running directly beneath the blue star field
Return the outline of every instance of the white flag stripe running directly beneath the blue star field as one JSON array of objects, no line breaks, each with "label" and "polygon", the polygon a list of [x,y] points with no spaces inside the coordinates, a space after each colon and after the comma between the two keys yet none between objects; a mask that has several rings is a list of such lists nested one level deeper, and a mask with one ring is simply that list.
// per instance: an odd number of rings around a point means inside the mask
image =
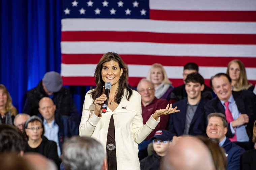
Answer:
[{"label": "white flag stripe running directly beneath the blue star field", "polygon": [[131,31],[153,33],[256,34],[256,22],[196,22],[158,21],[149,19],[66,18],[62,19],[61,23],[62,31]]}]

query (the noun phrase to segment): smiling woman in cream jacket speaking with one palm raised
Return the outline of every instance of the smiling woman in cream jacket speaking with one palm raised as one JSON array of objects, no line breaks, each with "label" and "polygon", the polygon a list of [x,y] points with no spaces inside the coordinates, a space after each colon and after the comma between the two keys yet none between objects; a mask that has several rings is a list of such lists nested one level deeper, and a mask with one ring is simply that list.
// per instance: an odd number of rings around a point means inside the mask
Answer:
[{"label": "smiling woman in cream jacket speaking with one palm raised", "polygon": [[[160,121],[160,116],[179,112],[171,108],[157,110],[145,125],[141,116],[141,97],[128,88],[127,70],[117,53],[108,52],[96,66],[97,87],[85,96],[79,126],[80,136],[91,136],[106,146],[108,169],[139,170],[138,143],[141,143]],[[104,84],[111,83],[106,113],[102,105],[107,101]]]}]

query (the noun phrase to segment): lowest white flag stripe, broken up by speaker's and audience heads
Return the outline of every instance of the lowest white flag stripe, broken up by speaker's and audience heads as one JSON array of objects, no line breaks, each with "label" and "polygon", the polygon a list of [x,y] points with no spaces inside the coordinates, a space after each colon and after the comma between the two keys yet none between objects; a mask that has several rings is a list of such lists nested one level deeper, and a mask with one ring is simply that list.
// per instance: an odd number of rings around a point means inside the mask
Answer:
[{"label": "lowest white flag stripe, broken up by speaker's and audience heads", "polygon": [[[61,64],[61,75],[67,77],[93,76],[97,64]],[[151,65],[128,65],[129,77],[146,77]],[[168,78],[183,78],[183,66],[164,66]],[[200,67],[199,73],[205,78],[226,72],[227,67]],[[256,68],[246,68],[247,78],[256,80]]]}]

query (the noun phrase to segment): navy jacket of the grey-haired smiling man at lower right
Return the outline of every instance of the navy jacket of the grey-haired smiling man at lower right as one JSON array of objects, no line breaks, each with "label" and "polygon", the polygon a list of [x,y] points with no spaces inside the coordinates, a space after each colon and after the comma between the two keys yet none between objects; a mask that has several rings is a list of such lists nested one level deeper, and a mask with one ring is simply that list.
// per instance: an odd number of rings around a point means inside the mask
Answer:
[{"label": "navy jacket of the grey-haired smiling man at lower right", "polygon": [[232,143],[228,138],[225,140],[222,147],[225,149],[226,154],[228,154],[228,166],[226,170],[240,170],[240,157],[245,150]]}]

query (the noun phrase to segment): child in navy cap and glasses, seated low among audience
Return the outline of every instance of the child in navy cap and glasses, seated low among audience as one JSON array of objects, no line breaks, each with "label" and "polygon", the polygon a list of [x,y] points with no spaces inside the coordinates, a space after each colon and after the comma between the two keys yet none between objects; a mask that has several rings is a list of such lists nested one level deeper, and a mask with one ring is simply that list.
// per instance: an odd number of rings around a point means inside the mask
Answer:
[{"label": "child in navy cap and glasses, seated low among audience", "polygon": [[166,155],[171,145],[173,134],[168,130],[158,130],[151,138],[153,140],[153,154],[140,161],[141,170],[156,170],[160,167],[160,160]]}]

